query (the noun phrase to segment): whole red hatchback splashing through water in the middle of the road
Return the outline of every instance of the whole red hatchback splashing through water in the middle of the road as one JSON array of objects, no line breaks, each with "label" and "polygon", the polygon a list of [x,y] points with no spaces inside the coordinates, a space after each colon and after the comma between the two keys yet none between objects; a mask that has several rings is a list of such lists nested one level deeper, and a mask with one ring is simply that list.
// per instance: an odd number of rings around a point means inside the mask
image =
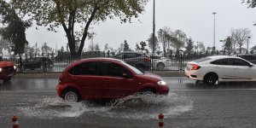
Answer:
[{"label": "whole red hatchback splashing through water in the middle of the road", "polygon": [[56,87],[58,96],[69,102],[83,99],[114,99],[150,91],[166,95],[169,87],[154,74],[111,58],[74,61],[62,73]]}]

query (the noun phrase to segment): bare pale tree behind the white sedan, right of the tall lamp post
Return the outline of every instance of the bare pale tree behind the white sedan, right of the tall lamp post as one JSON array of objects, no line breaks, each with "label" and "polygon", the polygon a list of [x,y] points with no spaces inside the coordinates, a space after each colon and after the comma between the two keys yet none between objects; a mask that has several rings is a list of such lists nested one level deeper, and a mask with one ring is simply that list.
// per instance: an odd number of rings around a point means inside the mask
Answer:
[{"label": "bare pale tree behind the white sedan, right of the tall lamp post", "polygon": [[241,47],[244,44],[247,44],[248,37],[251,37],[251,31],[248,28],[238,28],[238,29],[232,29],[231,30],[231,40],[232,44],[234,46],[239,47],[239,53],[241,54]]}]

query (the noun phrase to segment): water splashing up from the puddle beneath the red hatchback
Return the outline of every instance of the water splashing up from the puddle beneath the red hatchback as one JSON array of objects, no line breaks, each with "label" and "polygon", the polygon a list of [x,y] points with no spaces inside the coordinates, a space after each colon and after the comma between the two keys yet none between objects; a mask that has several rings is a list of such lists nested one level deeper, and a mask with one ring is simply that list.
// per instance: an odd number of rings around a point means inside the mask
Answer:
[{"label": "water splashing up from the puddle beneath the red hatchback", "polygon": [[120,98],[103,106],[96,102],[66,102],[61,98],[44,98],[32,107],[17,107],[29,117],[79,117],[93,114],[102,117],[123,119],[155,119],[159,113],[170,118],[193,108],[187,97],[170,93],[167,96],[134,95]]}]

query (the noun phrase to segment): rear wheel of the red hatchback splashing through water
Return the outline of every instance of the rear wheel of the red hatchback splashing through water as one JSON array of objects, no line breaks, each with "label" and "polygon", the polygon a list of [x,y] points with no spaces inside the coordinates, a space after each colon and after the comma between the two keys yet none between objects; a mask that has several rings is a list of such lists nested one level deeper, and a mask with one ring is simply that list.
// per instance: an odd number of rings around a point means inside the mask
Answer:
[{"label": "rear wheel of the red hatchback splashing through water", "polygon": [[66,90],[63,94],[63,99],[67,102],[80,102],[81,97],[77,90]]}]

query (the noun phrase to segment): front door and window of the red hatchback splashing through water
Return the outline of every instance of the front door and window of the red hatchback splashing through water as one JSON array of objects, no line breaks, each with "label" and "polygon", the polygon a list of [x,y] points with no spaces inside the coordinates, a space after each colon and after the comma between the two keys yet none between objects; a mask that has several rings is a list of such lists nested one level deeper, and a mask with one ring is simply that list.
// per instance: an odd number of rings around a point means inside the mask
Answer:
[{"label": "front door and window of the red hatchback splashing through water", "polygon": [[[120,97],[129,96],[134,93],[136,83],[128,69],[113,62],[104,62],[103,67],[107,71],[104,79],[108,80],[107,84],[104,85],[106,96]],[[126,77],[124,77],[124,73]]]}]

